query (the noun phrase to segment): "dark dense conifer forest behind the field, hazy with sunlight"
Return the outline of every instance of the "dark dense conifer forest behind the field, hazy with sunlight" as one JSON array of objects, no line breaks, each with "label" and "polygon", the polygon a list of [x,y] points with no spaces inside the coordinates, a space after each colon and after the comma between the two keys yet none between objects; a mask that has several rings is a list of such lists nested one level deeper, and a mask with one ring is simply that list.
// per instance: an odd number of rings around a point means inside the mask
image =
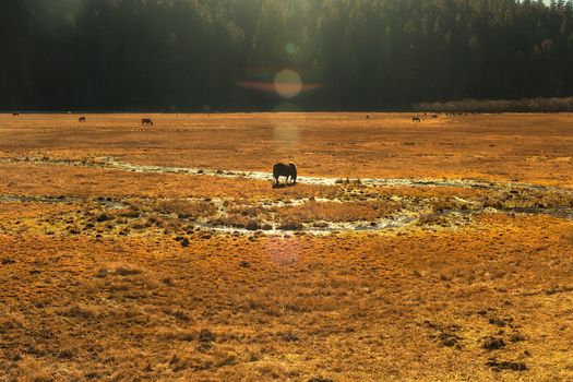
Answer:
[{"label": "dark dense conifer forest behind the field, hazy with sunlight", "polygon": [[7,110],[573,95],[571,0],[2,0],[0,39]]}]

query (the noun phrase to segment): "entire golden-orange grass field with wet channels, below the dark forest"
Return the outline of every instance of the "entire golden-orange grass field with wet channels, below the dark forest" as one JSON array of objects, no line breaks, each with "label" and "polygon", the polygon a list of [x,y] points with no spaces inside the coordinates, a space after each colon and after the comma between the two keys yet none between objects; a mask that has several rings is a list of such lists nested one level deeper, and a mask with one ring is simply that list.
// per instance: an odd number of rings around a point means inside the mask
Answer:
[{"label": "entire golden-orange grass field with wet channels, below the dark forest", "polygon": [[413,116],[0,115],[0,381],[573,381],[573,115]]}]

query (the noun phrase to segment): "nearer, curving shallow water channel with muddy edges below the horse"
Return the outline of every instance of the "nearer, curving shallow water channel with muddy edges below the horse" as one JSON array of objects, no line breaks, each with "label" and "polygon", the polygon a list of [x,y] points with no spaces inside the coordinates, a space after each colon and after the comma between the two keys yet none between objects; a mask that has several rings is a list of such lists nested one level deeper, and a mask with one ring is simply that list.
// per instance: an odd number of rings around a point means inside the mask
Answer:
[{"label": "nearer, curving shallow water channel with muddy edges below the horse", "polygon": [[[237,201],[234,199],[201,199],[189,198],[183,199],[190,203],[210,203],[216,208],[213,215],[204,217],[178,217],[174,213],[165,213],[156,210],[153,203],[160,203],[162,200],[151,198],[138,199],[127,198],[126,200],[111,200],[106,198],[76,198],[76,196],[41,196],[41,195],[0,195],[0,202],[22,202],[22,203],[55,203],[55,204],[82,204],[89,203],[99,205],[100,211],[111,210],[130,210],[133,205],[147,205],[146,208],[141,210],[138,214],[132,216],[130,222],[122,223],[129,226],[136,222],[144,222],[153,216],[159,216],[165,219],[178,219],[182,226],[192,227],[193,229],[207,230],[213,232],[222,232],[229,235],[270,235],[270,236],[287,236],[287,235],[332,235],[336,232],[383,232],[396,231],[401,229],[408,229],[414,226],[426,227],[431,229],[451,229],[459,227],[471,222],[473,217],[484,213],[502,213],[502,214],[528,214],[528,215],[550,215],[559,218],[573,219],[572,208],[541,208],[541,207],[512,207],[512,208],[496,208],[491,206],[475,206],[471,208],[444,208],[434,212],[432,208],[431,199],[414,200],[403,198],[404,205],[401,210],[386,215],[384,217],[371,220],[354,220],[354,222],[330,222],[330,220],[313,220],[310,223],[302,223],[294,228],[289,228],[280,223],[277,218],[276,212],[279,208],[300,206],[305,203],[312,202],[338,202],[344,203],[337,199],[295,199],[290,201],[272,201],[262,200],[258,202]],[[468,202],[468,201],[466,201]],[[471,202],[471,201],[469,201]],[[147,203],[147,204],[146,204]],[[151,203],[151,204],[150,204]],[[151,206],[150,206],[151,205]],[[265,212],[263,215],[259,213],[251,216],[253,222],[258,222],[254,227],[228,225],[225,223],[214,223],[218,218],[227,218],[236,213],[237,208],[259,208],[258,211]],[[266,214],[266,215],[265,215]],[[73,216],[72,216],[73,215]],[[71,217],[79,224],[85,224],[85,217],[81,214],[72,214]],[[75,216],[77,215],[77,216]],[[124,215],[126,216],[126,215]],[[119,222],[119,220],[118,220]],[[223,219],[222,222],[225,222]],[[126,227],[127,227],[126,226]],[[121,228],[121,227],[119,227]],[[118,229],[119,229],[118,228]]]}]

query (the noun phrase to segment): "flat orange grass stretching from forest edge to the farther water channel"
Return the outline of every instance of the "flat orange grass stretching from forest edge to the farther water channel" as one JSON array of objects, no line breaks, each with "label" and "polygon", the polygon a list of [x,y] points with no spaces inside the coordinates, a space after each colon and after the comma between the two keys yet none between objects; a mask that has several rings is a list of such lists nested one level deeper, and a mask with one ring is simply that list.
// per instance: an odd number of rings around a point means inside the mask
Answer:
[{"label": "flat orange grass stretching from forest edge to the farther water channel", "polygon": [[[112,156],[239,171],[271,171],[273,163],[291,160],[301,176],[518,179],[573,187],[571,114],[473,115],[422,123],[413,123],[409,114],[155,115],[156,124],[145,130],[138,126],[141,115],[86,117],[79,126],[74,116],[0,115],[0,156]],[[284,132],[295,134],[285,140]],[[76,179],[83,192],[94,187],[92,180]],[[154,189],[168,195],[181,188],[156,179],[141,192]]]}]

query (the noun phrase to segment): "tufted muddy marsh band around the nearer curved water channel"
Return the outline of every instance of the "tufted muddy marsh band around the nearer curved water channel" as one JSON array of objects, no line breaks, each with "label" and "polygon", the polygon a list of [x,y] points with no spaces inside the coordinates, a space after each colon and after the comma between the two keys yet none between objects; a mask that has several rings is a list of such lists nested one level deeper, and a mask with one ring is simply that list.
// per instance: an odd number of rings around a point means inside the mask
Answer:
[{"label": "tufted muddy marsh band around the nearer curved water channel", "polygon": [[[571,207],[557,202],[545,207],[524,206],[538,203],[541,196],[527,202],[526,199],[506,200],[504,194],[487,199],[350,195],[290,200],[0,195],[0,203],[79,206],[76,211],[28,219],[26,224],[21,224],[20,219],[4,219],[0,231],[32,229],[48,235],[175,235],[180,238],[190,235],[210,238],[208,232],[212,232],[256,237],[456,229],[484,213],[548,214],[568,219],[573,216]],[[564,204],[570,202],[568,199],[556,200]]]}]

